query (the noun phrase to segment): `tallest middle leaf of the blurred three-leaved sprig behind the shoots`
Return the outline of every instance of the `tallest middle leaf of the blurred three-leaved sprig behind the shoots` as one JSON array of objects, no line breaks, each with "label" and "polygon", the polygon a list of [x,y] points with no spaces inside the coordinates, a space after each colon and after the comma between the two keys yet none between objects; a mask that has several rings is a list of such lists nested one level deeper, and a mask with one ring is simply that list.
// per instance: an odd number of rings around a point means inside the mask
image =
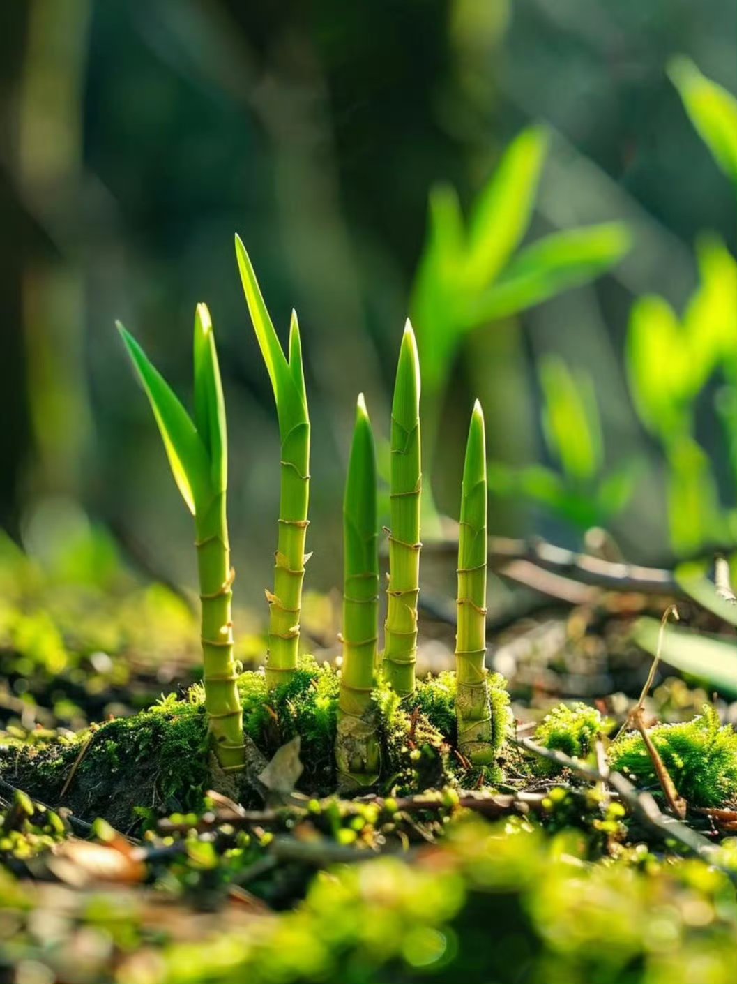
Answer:
[{"label": "tallest middle leaf of the blurred three-leaved sprig behind the shoots", "polygon": [[542,127],[523,130],[477,199],[469,229],[470,286],[494,279],[525,235],[546,152],[547,134]]}]

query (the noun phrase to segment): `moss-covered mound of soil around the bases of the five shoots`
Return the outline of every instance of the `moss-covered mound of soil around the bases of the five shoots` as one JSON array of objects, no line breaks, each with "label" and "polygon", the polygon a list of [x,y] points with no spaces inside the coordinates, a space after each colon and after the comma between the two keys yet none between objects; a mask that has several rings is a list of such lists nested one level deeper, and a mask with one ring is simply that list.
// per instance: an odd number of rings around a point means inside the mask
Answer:
[{"label": "moss-covered mound of soil around the bases of the five shoots", "polygon": [[[289,683],[267,695],[262,672],[242,675],[244,730],[269,760],[299,736],[304,771],[297,789],[311,796],[335,790],[333,758],[340,677],[327,663],[303,657]],[[503,681],[490,678],[495,751],[509,724],[509,698]],[[386,687],[376,690],[384,774],[380,791],[393,794],[458,784],[495,781],[499,769],[483,775],[467,768],[455,753],[455,677],[441,673],[418,683],[404,702]],[[93,725],[79,734],[31,732],[9,737],[0,747],[7,781],[40,800],[71,808],[81,819],[104,817],[130,830],[142,811],[158,814],[202,808],[211,784],[207,725],[201,686],[184,697],[169,695],[141,713]],[[65,785],[67,789],[62,795]],[[246,802],[255,800],[244,789]]]}]

